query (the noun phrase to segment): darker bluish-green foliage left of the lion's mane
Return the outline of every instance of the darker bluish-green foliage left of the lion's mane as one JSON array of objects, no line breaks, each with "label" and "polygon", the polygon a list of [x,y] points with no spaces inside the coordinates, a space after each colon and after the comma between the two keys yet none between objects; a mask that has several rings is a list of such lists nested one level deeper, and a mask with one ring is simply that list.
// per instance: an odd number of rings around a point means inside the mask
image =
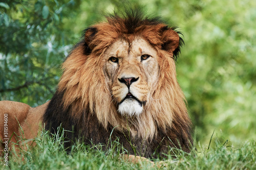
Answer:
[{"label": "darker bluish-green foliage left of the lion's mane", "polygon": [[36,106],[51,98],[60,75],[59,64],[73,38],[67,36],[70,30],[63,29],[62,19],[73,8],[73,1],[2,3],[1,100]]}]

